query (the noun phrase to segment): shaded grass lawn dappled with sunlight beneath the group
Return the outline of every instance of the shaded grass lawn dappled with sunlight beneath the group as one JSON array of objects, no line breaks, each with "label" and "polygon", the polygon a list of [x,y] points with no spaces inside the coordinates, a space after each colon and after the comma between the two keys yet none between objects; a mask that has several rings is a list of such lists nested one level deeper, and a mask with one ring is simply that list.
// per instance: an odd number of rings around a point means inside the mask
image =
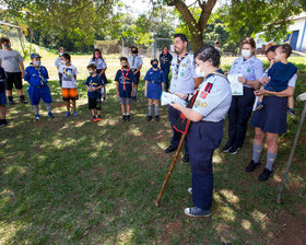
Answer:
[{"label": "shaded grass lawn dappled with sunlight beneath the group", "polygon": [[[174,156],[164,153],[172,136],[167,108],[162,107],[160,122],[145,121],[142,82],[132,120],[122,122],[113,82],[103,120],[92,122],[82,81],[90,56],[72,56],[80,72],[80,116],[63,118],[55,58],[46,54],[43,62],[51,78],[56,118],[48,119],[42,105],[43,117],[35,122],[32,107],[16,104],[8,106],[10,126],[0,129],[0,244],[306,244],[306,125],[283,203],[275,198],[298,119],[289,120],[267,183],[257,180],[262,168],[244,172],[252,152],[251,127],[237,155],[216,150],[212,215],[188,218],[183,210],[192,205],[187,192],[191,173],[183,154],[160,208],[154,206]],[[223,59],[225,70],[233,59]],[[106,61],[107,77],[114,79],[119,61]],[[293,61],[299,69],[297,95],[305,92],[305,58]],[[296,103],[298,116],[302,108]]]}]

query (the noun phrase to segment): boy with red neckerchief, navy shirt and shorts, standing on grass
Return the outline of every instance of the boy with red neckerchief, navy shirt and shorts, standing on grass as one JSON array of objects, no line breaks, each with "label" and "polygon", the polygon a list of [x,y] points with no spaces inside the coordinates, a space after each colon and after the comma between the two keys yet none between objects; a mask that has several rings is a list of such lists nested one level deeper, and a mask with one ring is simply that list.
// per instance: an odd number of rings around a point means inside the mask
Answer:
[{"label": "boy with red neckerchief, navy shirt and shorts, standing on grass", "polygon": [[134,75],[128,66],[127,57],[120,58],[121,69],[116,73],[117,96],[122,110],[122,120],[130,121],[131,97],[133,96]]}]

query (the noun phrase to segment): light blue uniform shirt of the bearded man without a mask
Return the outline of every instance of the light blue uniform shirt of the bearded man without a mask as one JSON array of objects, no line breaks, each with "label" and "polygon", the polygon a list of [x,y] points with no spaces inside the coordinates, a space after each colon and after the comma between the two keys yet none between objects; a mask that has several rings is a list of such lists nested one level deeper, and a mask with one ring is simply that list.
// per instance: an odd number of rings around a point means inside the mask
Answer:
[{"label": "light blue uniform shirt of the bearded man without a mask", "polygon": [[175,93],[193,93],[195,80],[200,78],[196,73],[193,65],[193,55],[186,54],[183,58],[174,57],[172,62],[172,81],[170,92]]}]

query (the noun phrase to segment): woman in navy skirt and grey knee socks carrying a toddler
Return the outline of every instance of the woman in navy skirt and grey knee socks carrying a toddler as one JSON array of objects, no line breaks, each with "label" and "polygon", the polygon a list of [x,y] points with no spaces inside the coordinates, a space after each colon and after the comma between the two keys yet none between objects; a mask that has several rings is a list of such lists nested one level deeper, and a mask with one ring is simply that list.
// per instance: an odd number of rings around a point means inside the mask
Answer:
[{"label": "woman in navy skirt and grey knee socks carrying a toddler", "polygon": [[[268,49],[267,57],[273,63],[274,51]],[[287,54],[285,54],[287,55]],[[260,166],[259,159],[263,150],[263,141],[267,138],[267,164],[259,175],[258,180],[267,180],[273,173],[272,165],[278,154],[279,135],[286,132],[286,104],[287,97],[293,96],[297,75],[294,74],[287,83],[287,89],[281,92],[272,92],[264,89],[255,92],[256,96],[264,95],[261,110],[256,110],[250,120],[255,127],[255,139],[252,148],[252,159],[246,172],[252,172]]]}]

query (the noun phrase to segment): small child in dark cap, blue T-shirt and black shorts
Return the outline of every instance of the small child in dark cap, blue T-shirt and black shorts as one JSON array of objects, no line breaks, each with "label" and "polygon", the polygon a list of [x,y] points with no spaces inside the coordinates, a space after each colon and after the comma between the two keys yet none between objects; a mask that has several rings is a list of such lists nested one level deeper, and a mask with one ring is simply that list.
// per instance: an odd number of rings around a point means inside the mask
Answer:
[{"label": "small child in dark cap, blue T-shirt and black shorts", "polygon": [[[101,120],[101,89],[105,85],[102,77],[97,74],[97,69],[94,63],[87,66],[90,77],[87,78],[85,85],[89,96],[89,108],[91,109],[93,121]],[[97,117],[95,116],[95,109]]]}]

